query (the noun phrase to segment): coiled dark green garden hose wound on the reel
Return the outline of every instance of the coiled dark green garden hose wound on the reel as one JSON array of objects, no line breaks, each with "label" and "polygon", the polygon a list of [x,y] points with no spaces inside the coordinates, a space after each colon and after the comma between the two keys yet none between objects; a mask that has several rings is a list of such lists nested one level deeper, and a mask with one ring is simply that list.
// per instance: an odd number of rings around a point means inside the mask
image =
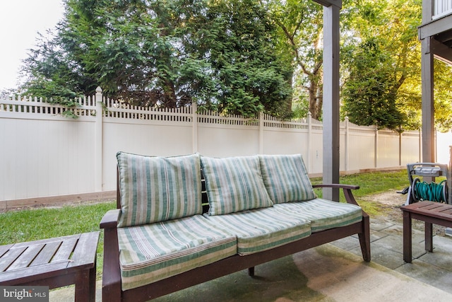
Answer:
[{"label": "coiled dark green garden hose wound on the reel", "polygon": [[420,200],[430,200],[432,202],[446,202],[448,199],[447,182],[443,180],[436,182],[421,182],[415,178],[412,182],[412,197],[415,202]]}]

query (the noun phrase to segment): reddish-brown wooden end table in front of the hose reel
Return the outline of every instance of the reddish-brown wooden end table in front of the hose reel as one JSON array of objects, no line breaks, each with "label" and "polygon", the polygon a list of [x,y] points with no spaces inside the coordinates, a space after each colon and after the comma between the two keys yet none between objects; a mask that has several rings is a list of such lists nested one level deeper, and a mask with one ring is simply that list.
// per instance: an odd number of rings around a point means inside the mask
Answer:
[{"label": "reddish-brown wooden end table in front of the hose reel", "polygon": [[452,204],[440,202],[416,202],[401,207],[403,211],[403,260],[412,261],[411,219],[425,221],[425,250],[433,252],[432,224],[452,227]]}]

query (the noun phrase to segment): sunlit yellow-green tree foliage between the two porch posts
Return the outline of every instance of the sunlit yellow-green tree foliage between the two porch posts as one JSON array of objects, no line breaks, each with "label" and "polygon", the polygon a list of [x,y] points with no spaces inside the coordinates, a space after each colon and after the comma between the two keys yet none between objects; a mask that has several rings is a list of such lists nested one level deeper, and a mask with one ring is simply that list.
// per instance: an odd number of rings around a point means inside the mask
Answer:
[{"label": "sunlit yellow-green tree foliage between the two porch posts", "polygon": [[342,115],[352,122],[406,129],[416,99],[409,89],[420,74],[421,7],[419,0],[363,0],[347,11]]}]

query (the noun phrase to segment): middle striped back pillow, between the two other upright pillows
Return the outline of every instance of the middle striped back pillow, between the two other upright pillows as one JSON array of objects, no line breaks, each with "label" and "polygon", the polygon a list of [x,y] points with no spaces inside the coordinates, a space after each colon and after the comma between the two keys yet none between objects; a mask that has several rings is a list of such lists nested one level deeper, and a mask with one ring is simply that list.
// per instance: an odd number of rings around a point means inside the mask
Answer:
[{"label": "middle striped back pillow, between the two other upright pillows", "polygon": [[208,158],[201,156],[209,214],[229,214],[271,207],[257,156]]}]

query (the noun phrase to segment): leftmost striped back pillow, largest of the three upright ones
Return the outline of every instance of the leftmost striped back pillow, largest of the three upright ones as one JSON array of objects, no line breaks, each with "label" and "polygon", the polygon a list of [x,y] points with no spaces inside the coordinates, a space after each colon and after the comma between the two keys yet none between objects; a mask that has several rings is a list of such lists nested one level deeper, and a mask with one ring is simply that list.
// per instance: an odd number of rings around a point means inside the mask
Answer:
[{"label": "leftmost striped back pillow, largest of the three upright ones", "polygon": [[198,154],[175,157],[117,153],[121,217],[119,227],[201,214]]}]

